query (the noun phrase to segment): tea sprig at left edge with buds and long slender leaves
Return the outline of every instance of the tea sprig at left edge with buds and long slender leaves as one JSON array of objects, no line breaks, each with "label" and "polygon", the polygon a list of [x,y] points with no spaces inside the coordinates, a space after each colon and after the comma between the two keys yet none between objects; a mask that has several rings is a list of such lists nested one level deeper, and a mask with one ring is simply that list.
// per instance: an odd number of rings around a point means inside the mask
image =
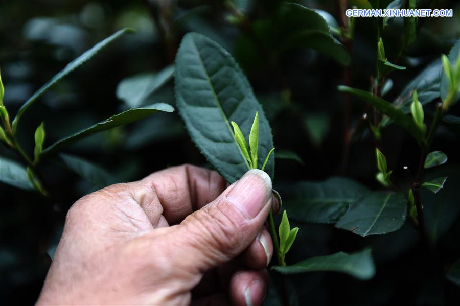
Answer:
[{"label": "tea sprig at left edge with buds and long slender leaves", "polygon": [[[2,120],[3,127],[0,127],[0,142],[3,142],[9,149],[14,151],[22,161],[27,165],[26,168],[22,167],[20,164],[16,163],[13,160],[0,157],[0,173],[1,180],[23,189],[34,189],[39,192],[44,197],[49,197],[50,194],[45,189],[43,184],[43,179],[39,171],[39,165],[44,158],[49,157],[50,155],[56,154],[65,148],[68,145],[71,145],[78,140],[87,137],[91,134],[112,129],[121,125],[132,123],[138,120],[141,120],[153,113],[158,111],[171,112],[173,108],[165,103],[156,103],[149,106],[144,106],[140,108],[131,108],[122,113],[111,116],[109,119],[97,123],[93,126],[90,126],[86,129],[80,130],[73,135],[64,137],[62,139],[56,140],[50,146],[44,147],[45,143],[45,125],[42,122],[36,129],[34,134],[35,146],[34,146],[34,156],[30,157],[25,150],[19,144],[16,137],[16,131],[19,126],[19,121],[25,112],[43,95],[45,91],[59,82],[62,78],[72,73],[80,65],[84,64],[86,61],[95,56],[100,50],[105,48],[108,44],[120,38],[123,34],[132,32],[130,29],[120,30],[117,33],[114,33],[110,37],[104,39],[103,41],[97,43],[93,48],[83,53],[81,56],[76,58],[74,61],[69,63],[61,72],[54,76],[48,83],[44,84],[39,88],[18,110],[13,121],[9,112],[6,109],[6,106],[3,103],[3,97],[5,93],[4,85],[0,76],[0,119]],[[65,160],[67,156],[61,156]],[[66,162],[66,166],[70,167],[77,173],[81,173],[79,170],[83,166],[82,161],[77,163]],[[85,164],[90,172],[97,172],[95,169],[91,169],[89,164]],[[87,174],[89,176],[89,174]]]}]

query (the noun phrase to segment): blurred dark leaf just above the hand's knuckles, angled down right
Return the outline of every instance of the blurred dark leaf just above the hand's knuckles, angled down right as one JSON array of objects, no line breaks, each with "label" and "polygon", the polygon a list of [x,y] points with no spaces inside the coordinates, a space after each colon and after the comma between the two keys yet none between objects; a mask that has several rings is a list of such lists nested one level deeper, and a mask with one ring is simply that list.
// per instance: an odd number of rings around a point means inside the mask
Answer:
[{"label": "blurred dark leaf just above the hand's knuckles, angled down right", "polygon": [[109,174],[106,170],[81,157],[69,154],[59,154],[59,157],[65,167],[98,188],[103,188],[117,182],[117,179],[115,179],[114,176]]}]

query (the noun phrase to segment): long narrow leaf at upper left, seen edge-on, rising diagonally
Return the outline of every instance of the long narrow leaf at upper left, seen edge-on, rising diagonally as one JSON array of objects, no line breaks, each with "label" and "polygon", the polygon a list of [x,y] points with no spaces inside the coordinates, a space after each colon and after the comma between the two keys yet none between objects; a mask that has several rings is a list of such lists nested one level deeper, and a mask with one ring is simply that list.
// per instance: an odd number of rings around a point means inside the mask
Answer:
[{"label": "long narrow leaf at upper left, seen edge-on, rising diagonally", "polygon": [[54,84],[59,82],[66,75],[68,75],[71,72],[73,72],[73,70],[75,70],[76,68],[78,68],[79,66],[81,66],[82,64],[87,62],[89,59],[91,59],[93,56],[95,56],[99,51],[101,51],[101,49],[104,49],[105,46],[107,46],[108,44],[110,44],[114,40],[120,38],[120,36],[122,36],[123,34],[125,34],[127,32],[133,32],[133,30],[128,29],[128,28],[120,30],[120,31],[112,34],[111,36],[107,37],[106,39],[98,42],[97,44],[95,44],[93,46],[93,48],[85,51],[82,55],[80,55],[79,57],[74,59],[72,62],[68,63],[67,66],[65,66],[64,69],[62,69],[57,75],[55,75],[48,83],[46,83],[43,86],[41,86],[40,89],[38,89],[32,95],[32,97],[30,97],[24,103],[24,105],[21,106],[21,108],[17,112],[17,115],[16,115],[16,117],[15,117],[15,119],[13,121],[13,131],[16,131],[17,123],[18,123],[19,119],[21,118],[22,114],[24,114],[24,112],[32,105],[32,103],[34,103],[34,101],[36,101],[41,95],[43,95],[43,93],[45,91],[47,91],[51,86],[53,86]]}]

